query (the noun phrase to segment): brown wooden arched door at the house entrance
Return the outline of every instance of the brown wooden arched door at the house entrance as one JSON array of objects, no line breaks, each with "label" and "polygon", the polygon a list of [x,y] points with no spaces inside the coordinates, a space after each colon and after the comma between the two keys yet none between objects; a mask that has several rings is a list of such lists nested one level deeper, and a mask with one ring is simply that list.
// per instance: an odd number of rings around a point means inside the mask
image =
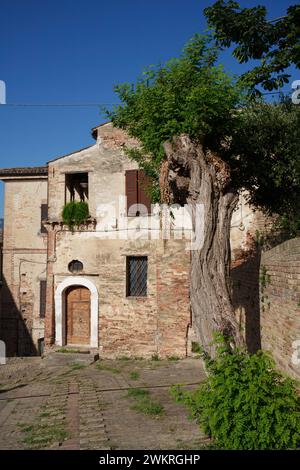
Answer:
[{"label": "brown wooden arched door at the house entrance", "polygon": [[86,287],[72,286],[66,292],[67,344],[90,344],[91,296]]}]

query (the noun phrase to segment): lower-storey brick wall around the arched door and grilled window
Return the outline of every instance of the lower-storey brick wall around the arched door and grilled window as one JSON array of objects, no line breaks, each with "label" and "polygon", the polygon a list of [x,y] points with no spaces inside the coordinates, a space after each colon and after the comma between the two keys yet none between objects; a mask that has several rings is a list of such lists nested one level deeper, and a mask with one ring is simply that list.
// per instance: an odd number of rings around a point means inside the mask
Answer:
[{"label": "lower-storey brick wall around the arched door and grilled window", "polygon": [[[190,308],[185,244],[147,237],[109,240],[101,232],[57,234],[54,291],[70,276],[70,260],[82,261],[78,279],[90,280],[99,293],[101,357],[186,356]],[[135,255],[148,257],[146,297],[126,295],[126,256]]]}]

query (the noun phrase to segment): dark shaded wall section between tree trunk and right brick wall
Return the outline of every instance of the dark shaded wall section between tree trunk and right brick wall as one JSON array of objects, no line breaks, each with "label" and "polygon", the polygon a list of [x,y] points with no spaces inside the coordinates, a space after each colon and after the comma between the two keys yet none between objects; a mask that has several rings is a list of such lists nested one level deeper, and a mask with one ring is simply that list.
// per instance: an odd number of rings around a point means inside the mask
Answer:
[{"label": "dark shaded wall section between tree trunk and right brick wall", "polygon": [[248,351],[261,349],[260,327],[260,248],[255,247],[246,256],[236,256],[232,263],[232,302],[236,317],[244,331]]}]

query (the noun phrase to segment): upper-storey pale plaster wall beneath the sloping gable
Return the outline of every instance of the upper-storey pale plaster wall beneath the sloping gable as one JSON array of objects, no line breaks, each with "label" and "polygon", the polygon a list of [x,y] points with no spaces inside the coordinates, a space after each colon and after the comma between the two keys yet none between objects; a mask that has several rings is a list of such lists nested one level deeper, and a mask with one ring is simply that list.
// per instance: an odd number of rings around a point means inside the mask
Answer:
[{"label": "upper-storey pale plaster wall beneath the sloping gable", "polygon": [[[102,128],[104,136],[107,133],[111,135],[111,132],[110,124]],[[115,224],[116,216],[113,216],[112,209],[107,214],[103,205],[110,204],[116,215],[119,210],[125,210],[125,203],[122,209],[119,207],[120,196],[124,198],[125,195],[125,171],[137,169],[138,165],[124,154],[124,132],[114,130],[114,135],[119,137],[118,141],[99,138],[95,145],[49,163],[50,220],[61,220],[61,212],[65,204],[65,174],[87,172],[89,174],[90,215],[97,218],[98,224],[102,227]],[[127,144],[130,145],[128,137]]]}]

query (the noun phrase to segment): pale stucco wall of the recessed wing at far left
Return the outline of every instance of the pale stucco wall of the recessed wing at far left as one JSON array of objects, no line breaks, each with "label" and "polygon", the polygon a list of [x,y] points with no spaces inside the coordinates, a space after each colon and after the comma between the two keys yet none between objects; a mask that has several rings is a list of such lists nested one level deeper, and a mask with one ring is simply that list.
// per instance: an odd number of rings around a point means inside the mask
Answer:
[{"label": "pale stucco wall of the recessed wing at far left", "polygon": [[5,182],[1,335],[9,355],[34,353],[43,337],[39,282],[46,278],[47,237],[40,233],[45,179]]}]

